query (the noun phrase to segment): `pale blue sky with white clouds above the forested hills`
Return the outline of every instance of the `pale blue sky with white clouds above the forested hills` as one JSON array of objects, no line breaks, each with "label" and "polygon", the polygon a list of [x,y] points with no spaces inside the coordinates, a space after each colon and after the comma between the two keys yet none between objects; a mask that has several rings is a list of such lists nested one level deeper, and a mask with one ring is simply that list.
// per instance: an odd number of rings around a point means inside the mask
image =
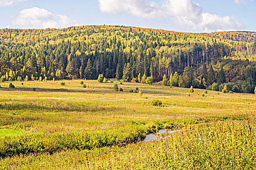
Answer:
[{"label": "pale blue sky with white clouds above the forested hills", "polygon": [[256,0],[0,0],[0,28],[124,25],[256,32]]}]

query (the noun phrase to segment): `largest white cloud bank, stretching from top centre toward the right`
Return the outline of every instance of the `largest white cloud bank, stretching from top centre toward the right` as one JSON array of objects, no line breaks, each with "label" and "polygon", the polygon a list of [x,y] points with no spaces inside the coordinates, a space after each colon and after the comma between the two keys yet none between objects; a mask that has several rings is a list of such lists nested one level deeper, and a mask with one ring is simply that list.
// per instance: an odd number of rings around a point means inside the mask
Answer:
[{"label": "largest white cloud bank, stretching from top centre toward the right", "polygon": [[236,30],[243,25],[233,16],[221,17],[203,13],[193,0],[163,0],[160,4],[145,0],[98,0],[99,9],[106,13],[128,13],[141,18],[170,18],[177,26],[191,31],[210,32]]}]

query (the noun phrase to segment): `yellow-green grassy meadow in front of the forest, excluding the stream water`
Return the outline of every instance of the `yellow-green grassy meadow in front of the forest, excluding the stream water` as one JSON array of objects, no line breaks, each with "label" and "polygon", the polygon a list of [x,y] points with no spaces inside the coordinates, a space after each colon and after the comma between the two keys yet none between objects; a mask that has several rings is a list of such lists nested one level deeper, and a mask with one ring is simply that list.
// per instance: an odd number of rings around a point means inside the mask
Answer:
[{"label": "yellow-green grassy meadow in front of the forest, excluding the stream water", "polygon": [[[139,83],[118,83],[124,91],[115,92],[113,83],[85,80],[83,88],[80,82],[13,82],[15,89],[0,84],[0,169],[256,165],[253,94],[195,89],[189,96],[186,88]],[[129,92],[136,87],[142,97]],[[153,99],[163,106],[153,106]],[[182,130],[167,140],[138,143],[166,128]]]}]

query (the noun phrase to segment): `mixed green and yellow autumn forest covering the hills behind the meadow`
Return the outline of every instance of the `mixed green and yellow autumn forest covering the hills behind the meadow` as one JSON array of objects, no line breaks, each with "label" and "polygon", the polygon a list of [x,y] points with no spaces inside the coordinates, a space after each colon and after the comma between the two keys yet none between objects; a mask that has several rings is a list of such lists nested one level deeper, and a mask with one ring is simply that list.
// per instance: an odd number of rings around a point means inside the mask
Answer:
[{"label": "mixed green and yellow autumn forest covering the hills behind the meadow", "polygon": [[[252,93],[256,33],[124,26],[1,29],[0,81],[97,79]],[[226,87],[225,87],[226,88]]]}]

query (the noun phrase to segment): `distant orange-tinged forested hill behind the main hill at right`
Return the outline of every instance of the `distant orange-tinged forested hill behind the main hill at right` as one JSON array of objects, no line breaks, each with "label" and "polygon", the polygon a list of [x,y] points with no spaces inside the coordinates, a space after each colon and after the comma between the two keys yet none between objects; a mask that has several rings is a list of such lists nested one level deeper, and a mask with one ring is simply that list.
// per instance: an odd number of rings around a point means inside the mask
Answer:
[{"label": "distant orange-tinged forested hill behind the main hill at right", "polygon": [[231,32],[206,33],[201,35],[205,35],[212,38],[233,40],[233,41],[256,42],[256,32],[231,31]]}]

